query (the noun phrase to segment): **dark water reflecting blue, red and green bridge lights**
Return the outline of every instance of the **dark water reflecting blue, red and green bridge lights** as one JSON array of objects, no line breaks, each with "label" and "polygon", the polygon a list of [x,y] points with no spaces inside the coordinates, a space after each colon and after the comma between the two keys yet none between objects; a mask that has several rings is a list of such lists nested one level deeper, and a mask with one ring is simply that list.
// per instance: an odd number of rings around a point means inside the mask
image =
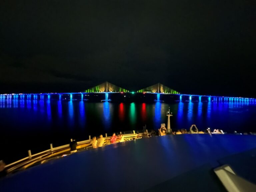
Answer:
[{"label": "dark water reflecting blue, red and green bridge lights", "polygon": [[1,154],[6,163],[68,144],[70,138],[148,130],[167,124],[166,112],[173,113],[171,128],[196,124],[199,130],[256,132],[256,105],[251,103],[172,102],[108,103],[58,100],[0,100]]}]

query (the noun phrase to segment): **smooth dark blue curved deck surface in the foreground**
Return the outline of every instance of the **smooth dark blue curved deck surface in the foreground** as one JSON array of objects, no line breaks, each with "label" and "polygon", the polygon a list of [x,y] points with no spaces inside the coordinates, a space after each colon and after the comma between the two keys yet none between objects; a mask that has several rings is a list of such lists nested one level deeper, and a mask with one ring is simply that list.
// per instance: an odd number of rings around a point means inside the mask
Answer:
[{"label": "smooth dark blue curved deck surface in the foreground", "polygon": [[1,179],[0,191],[225,191],[212,169],[230,163],[256,183],[255,148],[254,135],[144,138],[31,167]]}]

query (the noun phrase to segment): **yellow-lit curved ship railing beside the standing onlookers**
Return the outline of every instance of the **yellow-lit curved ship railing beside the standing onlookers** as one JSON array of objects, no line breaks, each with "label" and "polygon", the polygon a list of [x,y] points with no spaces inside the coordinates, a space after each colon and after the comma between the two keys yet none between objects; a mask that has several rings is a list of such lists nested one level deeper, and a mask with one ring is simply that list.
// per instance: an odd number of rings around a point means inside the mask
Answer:
[{"label": "yellow-lit curved ship railing beside the standing onlookers", "polygon": [[[127,133],[128,131],[126,131]],[[136,133],[137,132],[137,133]],[[123,134],[124,136],[124,141],[129,141],[129,140],[133,140],[138,138],[139,135],[143,134],[143,131],[129,131],[128,134]],[[146,130],[146,132],[148,133],[148,130]],[[122,132],[120,132],[120,134],[122,134]],[[107,133],[105,134],[105,143],[104,145],[108,145],[110,144],[110,138],[111,136],[108,136]],[[78,141],[77,142],[77,150],[78,151],[82,151],[82,150],[87,150],[92,148],[91,144],[91,136],[89,136],[88,140],[84,140],[84,141]],[[117,142],[119,142],[119,140],[117,140]],[[12,173],[12,172],[16,172],[18,170],[22,170],[22,169],[26,169],[30,166],[33,166],[35,164],[38,163],[44,163],[47,160],[53,158],[53,157],[57,157],[59,155],[63,155],[67,152],[70,151],[70,145],[62,145],[62,146],[58,146],[58,147],[53,147],[52,144],[50,144],[50,149],[36,153],[36,154],[31,154],[31,151],[28,151],[28,157],[25,157],[23,159],[20,159],[18,161],[15,161],[13,163],[10,163],[8,165],[5,166],[5,168],[7,169],[8,173]]]}]

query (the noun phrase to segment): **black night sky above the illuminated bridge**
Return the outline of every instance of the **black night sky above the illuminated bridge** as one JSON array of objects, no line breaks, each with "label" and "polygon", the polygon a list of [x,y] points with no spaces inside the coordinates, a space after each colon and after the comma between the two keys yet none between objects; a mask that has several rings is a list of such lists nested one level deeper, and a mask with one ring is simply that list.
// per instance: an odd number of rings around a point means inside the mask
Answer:
[{"label": "black night sky above the illuminated bridge", "polygon": [[0,92],[138,90],[251,96],[255,0],[1,0]]}]

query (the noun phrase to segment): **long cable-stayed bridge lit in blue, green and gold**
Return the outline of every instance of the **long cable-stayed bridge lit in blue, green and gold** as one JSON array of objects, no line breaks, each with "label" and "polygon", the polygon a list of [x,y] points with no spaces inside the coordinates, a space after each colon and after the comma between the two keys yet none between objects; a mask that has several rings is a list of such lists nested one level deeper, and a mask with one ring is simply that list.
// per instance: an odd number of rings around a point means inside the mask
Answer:
[{"label": "long cable-stayed bridge lit in blue, green and gold", "polygon": [[127,89],[118,87],[109,82],[104,82],[95,87],[86,89],[82,92],[70,92],[70,93],[12,93],[12,94],[0,94],[1,100],[50,100],[50,99],[59,99],[59,100],[73,100],[74,96],[77,100],[88,100],[84,96],[89,94],[105,94],[105,98],[101,101],[111,101],[110,94],[155,94],[156,102],[162,102],[163,100],[160,97],[162,95],[171,95],[175,101],[189,101],[189,102],[241,102],[241,103],[256,103],[255,98],[244,98],[244,97],[226,97],[226,96],[211,96],[211,95],[195,95],[195,94],[182,94],[176,90],[173,90],[161,83],[140,89],[136,92],[128,91]]}]

